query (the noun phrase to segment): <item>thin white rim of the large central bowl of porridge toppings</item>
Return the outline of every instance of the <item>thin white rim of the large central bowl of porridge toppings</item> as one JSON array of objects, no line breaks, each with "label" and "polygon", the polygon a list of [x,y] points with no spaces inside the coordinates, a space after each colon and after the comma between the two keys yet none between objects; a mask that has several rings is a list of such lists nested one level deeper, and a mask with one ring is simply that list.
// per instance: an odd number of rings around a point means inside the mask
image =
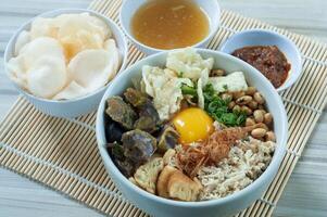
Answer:
[{"label": "thin white rim of the large central bowl of porridge toppings", "polygon": [[[271,99],[273,99],[277,104],[278,107],[280,110],[280,115],[281,115],[281,132],[284,132],[284,135],[281,135],[281,140],[280,143],[278,143],[278,148],[275,150],[274,156],[272,158],[272,162],[269,163],[268,167],[266,168],[266,170],[257,178],[255,179],[252,183],[250,183],[249,186],[247,186],[244,189],[235,192],[230,195],[227,195],[225,197],[221,197],[221,199],[213,199],[210,201],[199,201],[199,202],[181,202],[181,201],[174,201],[174,200],[169,200],[169,199],[164,199],[154,194],[151,194],[149,192],[147,192],[146,190],[135,186],[134,183],[131,183],[121,171],[120,169],[116,167],[116,165],[113,163],[113,159],[110,157],[110,155],[108,154],[104,145],[105,145],[105,138],[103,139],[102,137],[100,137],[100,132],[102,131],[100,129],[102,123],[104,123],[103,120],[103,112],[104,112],[104,106],[105,106],[105,100],[108,98],[108,94],[110,92],[110,88],[106,89],[105,93],[103,94],[101,102],[99,104],[98,107],[98,112],[97,112],[97,120],[96,120],[96,136],[97,136],[97,143],[98,143],[98,149],[100,151],[101,154],[101,158],[106,167],[106,171],[110,174],[115,174],[117,176],[118,181],[124,183],[124,187],[127,187],[128,190],[133,191],[133,193],[137,193],[141,196],[144,196],[147,200],[151,200],[158,203],[162,203],[165,205],[172,205],[172,206],[178,206],[178,207],[210,207],[210,206],[216,206],[216,205],[222,205],[225,203],[229,203],[232,202],[237,199],[240,199],[242,196],[248,195],[250,192],[254,191],[255,189],[257,189],[259,187],[263,186],[265,183],[265,180],[269,178],[269,176],[273,175],[273,177],[276,176],[276,173],[278,170],[278,167],[286,154],[286,145],[287,145],[287,139],[288,139],[288,119],[287,119],[287,115],[286,115],[286,111],[285,111],[285,106],[282,104],[281,98],[278,94],[278,92],[276,91],[276,89],[274,88],[274,86],[257,71],[255,69],[253,66],[251,66],[250,64],[232,56],[226,53],[223,53],[221,51],[215,51],[215,50],[210,50],[210,49],[199,49],[196,48],[197,52],[204,52],[206,54],[211,54],[211,55],[223,55],[234,62],[236,62],[236,64],[241,64],[241,65],[246,65],[246,67],[248,67],[251,71],[251,74],[255,74],[255,76],[261,77],[260,79],[262,81],[264,81],[266,84],[266,86],[268,86],[268,88],[271,89]],[[144,59],[142,59],[141,61],[137,62],[136,64],[130,65],[128,68],[126,68],[124,72],[122,72],[116,78],[114,82],[118,82],[121,77],[123,77],[125,74],[130,74],[131,71],[134,71],[139,64],[142,64],[146,61],[149,61],[151,59],[155,60],[156,58],[159,58],[160,55],[165,55],[166,53],[168,53],[169,51],[164,51],[164,52],[160,52],[160,53],[155,53],[152,55],[149,55]],[[112,84],[111,84],[112,85]],[[110,168],[110,169],[109,169]],[[109,171],[110,170],[110,171]],[[269,181],[271,183],[271,181]]]}]

